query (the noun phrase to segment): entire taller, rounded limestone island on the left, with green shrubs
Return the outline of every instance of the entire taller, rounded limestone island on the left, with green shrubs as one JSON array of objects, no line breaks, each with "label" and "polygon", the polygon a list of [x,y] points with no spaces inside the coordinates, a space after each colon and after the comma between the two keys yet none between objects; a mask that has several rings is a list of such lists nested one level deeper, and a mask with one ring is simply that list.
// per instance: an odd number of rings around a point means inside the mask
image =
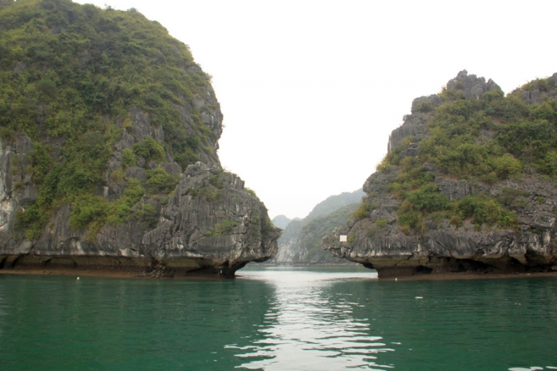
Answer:
[{"label": "entire taller, rounded limestone island on the left, with green shrubs", "polygon": [[186,45],[136,10],[0,7],[0,266],[233,276],[276,253],[223,171],[222,113]]}]

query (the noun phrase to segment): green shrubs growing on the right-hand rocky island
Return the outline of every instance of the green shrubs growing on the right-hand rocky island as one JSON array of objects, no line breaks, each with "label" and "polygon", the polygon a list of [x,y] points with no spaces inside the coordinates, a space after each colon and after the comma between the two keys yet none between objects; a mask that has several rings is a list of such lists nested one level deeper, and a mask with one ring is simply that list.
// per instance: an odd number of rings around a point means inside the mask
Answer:
[{"label": "green shrubs growing on the right-hand rocky island", "polygon": [[[517,228],[517,217],[500,199],[474,194],[450,200],[439,193],[430,168],[445,177],[472,183],[494,184],[524,173],[557,175],[557,99],[542,95],[542,102],[526,104],[521,93],[542,86],[542,94],[556,81],[538,79],[509,95],[491,90],[479,99],[465,99],[462,86],[444,88],[441,104],[418,104],[418,113],[427,113],[427,137],[419,141],[417,155],[407,155],[413,138],[393,148],[377,171],[397,171],[389,185],[402,200],[398,222],[403,230],[423,232],[425,222],[443,216],[459,226],[470,219],[476,228],[499,226]],[[424,104],[427,103],[427,106]],[[407,116],[407,119],[411,116]],[[354,218],[367,216],[362,205]]]}]

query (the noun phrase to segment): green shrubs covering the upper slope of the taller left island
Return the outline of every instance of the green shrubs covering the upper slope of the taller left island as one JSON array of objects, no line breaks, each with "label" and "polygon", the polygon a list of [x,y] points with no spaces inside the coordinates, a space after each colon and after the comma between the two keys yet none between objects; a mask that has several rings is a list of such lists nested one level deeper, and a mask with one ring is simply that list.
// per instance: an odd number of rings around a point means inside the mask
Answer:
[{"label": "green shrubs covering the upper slope of the taller left island", "polygon": [[[170,153],[184,169],[216,134],[203,124],[196,95],[210,93],[210,77],[187,45],[136,10],[102,10],[69,0],[8,1],[0,7],[0,137],[33,140],[31,168],[38,198],[17,215],[17,227],[36,239],[54,210],[72,207],[70,224],[90,229],[121,223],[146,193],[123,170],[113,178],[126,193],[100,195],[115,143],[131,132],[130,108],[164,129],[164,143],[146,136],[122,151],[123,167],[142,157],[162,163]],[[214,104],[215,108],[218,103]],[[191,111],[187,129],[176,107]],[[162,168],[148,171],[151,193],[168,193],[177,179]],[[143,191],[139,191],[139,187]],[[152,210],[151,210],[152,211]]]}]

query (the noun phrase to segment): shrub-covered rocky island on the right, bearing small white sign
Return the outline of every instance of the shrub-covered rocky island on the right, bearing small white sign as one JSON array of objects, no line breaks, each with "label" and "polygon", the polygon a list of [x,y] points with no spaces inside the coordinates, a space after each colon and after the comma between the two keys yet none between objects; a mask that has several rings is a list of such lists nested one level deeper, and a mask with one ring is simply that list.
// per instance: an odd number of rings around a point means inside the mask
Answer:
[{"label": "shrub-covered rocky island on the right, bearing small white sign", "polygon": [[[360,209],[322,248],[377,269],[380,278],[557,271],[555,168],[528,139],[548,128],[537,143],[555,145],[556,92],[557,74],[504,97],[493,81],[463,71],[439,95],[417,98],[363,184]],[[545,116],[535,121],[541,109]]]}]

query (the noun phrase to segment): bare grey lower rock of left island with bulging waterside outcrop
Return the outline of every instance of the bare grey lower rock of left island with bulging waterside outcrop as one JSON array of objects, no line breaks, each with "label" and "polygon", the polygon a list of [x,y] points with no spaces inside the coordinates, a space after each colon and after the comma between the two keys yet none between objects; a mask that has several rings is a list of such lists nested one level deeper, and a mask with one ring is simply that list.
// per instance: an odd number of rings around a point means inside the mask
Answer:
[{"label": "bare grey lower rock of left island with bulging waterside outcrop", "polygon": [[[3,145],[1,164],[10,163],[10,158],[29,148],[26,139],[11,147]],[[110,266],[145,269],[146,276],[157,277],[192,273],[233,277],[247,262],[265,261],[276,254],[280,229],[270,223],[265,205],[244,190],[240,177],[218,166],[201,162],[188,166],[166,205],[144,196],[141,203],[150,203],[157,210],[155,228],[130,219],[119,226],[103,226],[95,239],[88,236],[88,230],[72,229],[67,204],[54,213],[36,241],[13,238],[15,212],[36,194],[25,183],[19,191],[10,190],[10,174],[2,171],[0,182],[3,268]],[[152,271],[164,274],[152,275]]]}]

